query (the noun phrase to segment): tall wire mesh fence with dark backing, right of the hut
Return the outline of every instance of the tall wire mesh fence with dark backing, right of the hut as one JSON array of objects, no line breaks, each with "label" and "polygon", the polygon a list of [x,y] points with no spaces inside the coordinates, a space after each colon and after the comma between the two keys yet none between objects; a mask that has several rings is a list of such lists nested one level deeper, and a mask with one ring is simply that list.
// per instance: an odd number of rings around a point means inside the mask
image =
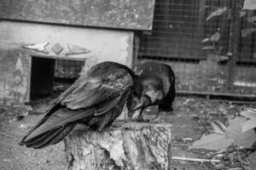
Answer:
[{"label": "tall wire mesh fence with dark backing, right of the hut", "polygon": [[153,30],[137,34],[138,59],[171,65],[181,92],[255,95],[255,13],[241,13],[242,3],[156,0]]}]

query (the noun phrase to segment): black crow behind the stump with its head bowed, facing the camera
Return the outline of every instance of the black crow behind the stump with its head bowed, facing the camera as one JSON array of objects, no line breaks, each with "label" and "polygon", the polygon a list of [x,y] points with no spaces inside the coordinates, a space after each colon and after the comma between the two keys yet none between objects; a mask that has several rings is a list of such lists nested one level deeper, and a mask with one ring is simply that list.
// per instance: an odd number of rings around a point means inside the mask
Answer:
[{"label": "black crow behind the stump with its head bowed, facing the camera", "polygon": [[[135,87],[127,101],[127,108],[133,113],[132,118],[142,120],[143,110],[149,105],[158,105],[159,111],[172,112],[175,99],[175,75],[171,66],[144,60],[132,69],[135,73]],[[155,118],[157,118],[155,116]]]}]

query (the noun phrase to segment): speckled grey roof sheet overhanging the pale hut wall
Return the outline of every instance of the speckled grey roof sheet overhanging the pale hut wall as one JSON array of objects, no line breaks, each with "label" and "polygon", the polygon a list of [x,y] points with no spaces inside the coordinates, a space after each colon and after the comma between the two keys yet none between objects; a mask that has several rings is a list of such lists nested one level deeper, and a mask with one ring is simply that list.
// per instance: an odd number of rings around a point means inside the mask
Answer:
[{"label": "speckled grey roof sheet overhanging the pale hut wall", "polygon": [[154,0],[0,0],[0,19],[151,30]]}]

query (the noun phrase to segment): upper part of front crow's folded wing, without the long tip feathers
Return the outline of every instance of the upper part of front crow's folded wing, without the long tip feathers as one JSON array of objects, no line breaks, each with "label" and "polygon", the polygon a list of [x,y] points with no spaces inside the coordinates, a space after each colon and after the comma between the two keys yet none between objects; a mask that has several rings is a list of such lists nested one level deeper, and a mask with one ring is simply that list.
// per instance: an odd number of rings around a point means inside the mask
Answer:
[{"label": "upper part of front crow's folded wing, without the long tip feathers", "polygon": [[127,90],[131,90],[131,86],[132,79],[129,74],[123,77],[112,74],[104,79],[102,77],[81,77],[61,94],[57,103],[71,110],[96,107],[101,104],[114,106]]}]

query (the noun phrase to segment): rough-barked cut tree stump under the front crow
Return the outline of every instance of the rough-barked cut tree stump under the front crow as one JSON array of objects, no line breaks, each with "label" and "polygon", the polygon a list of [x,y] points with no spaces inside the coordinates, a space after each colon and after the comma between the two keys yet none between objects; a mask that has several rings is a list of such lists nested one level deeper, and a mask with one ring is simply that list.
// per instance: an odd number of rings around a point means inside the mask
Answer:
[{"label": "rough-barked cut tree stump under the front crow", "polygon": [[69,170],[161,170],[170,163],[171,124],[127,122],[104,133],[76,129],[65,139]]}]

